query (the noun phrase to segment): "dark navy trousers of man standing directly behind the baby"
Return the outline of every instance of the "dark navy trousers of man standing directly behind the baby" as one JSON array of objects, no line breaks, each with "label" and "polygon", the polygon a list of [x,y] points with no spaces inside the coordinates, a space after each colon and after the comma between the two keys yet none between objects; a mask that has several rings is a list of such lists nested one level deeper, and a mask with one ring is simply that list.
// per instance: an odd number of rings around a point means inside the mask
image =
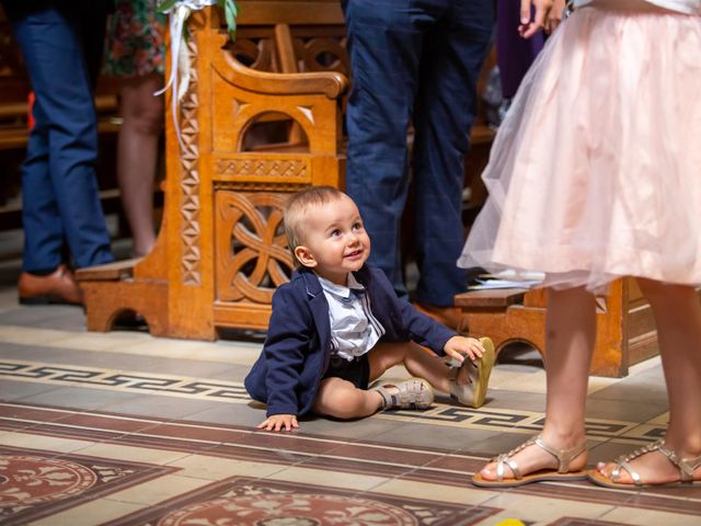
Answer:
[{"label": "dark navy trousers of man standing directly behind the baby", "polygon": [[406,294],[399,247],[413,122],[416,299],[451,306],[467,285],[456,265],[464,242],[464,155],[493,1],[344,0],[343,8],[353,70],[346,190],[372,240],[370,262]]}]

